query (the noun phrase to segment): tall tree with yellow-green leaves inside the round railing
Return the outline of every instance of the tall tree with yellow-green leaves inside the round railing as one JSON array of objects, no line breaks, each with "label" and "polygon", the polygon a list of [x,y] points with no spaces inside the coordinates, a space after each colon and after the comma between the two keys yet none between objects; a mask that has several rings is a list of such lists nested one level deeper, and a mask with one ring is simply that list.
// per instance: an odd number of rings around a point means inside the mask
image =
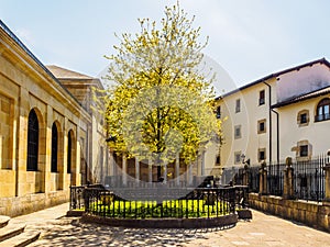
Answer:
[{"label": "tall tree with yellow-green leaves inside the round railing", "polygon": [[207,41],[198,42],[200,27],[193,27],[194,18],[178,3],[165,8],[158,29],[148,19],[139,22],[140,33],[118,36],[117,54],[107,56],[107,79],[113,85],[96,99],[116,141],[109,146],[156,165],[179,153],[188,165],[198,148],[221,136],[213,114],[213,76],[200,71]]}]

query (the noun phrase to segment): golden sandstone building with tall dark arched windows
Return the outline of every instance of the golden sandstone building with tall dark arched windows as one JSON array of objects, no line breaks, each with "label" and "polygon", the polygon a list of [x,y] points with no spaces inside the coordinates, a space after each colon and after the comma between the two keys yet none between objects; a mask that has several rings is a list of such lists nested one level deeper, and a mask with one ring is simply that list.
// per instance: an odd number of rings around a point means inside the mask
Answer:
[{"label": "golden sandstone building with tall dark arched windows", "polygon": [[107,151],[89,109],[99,80],[45,67],[1,21],[0,50],[0,214],[12,216],[67,201]]}]

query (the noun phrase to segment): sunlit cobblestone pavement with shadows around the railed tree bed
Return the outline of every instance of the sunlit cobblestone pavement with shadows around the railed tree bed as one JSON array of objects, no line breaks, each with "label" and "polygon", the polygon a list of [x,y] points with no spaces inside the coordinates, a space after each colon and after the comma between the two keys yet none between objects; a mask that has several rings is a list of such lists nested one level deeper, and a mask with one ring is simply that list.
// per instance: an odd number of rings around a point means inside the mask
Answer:
[{"label": "sunlit cobblestone pavement with shadows around the railed tree bed", "polygon": [[[253,220],[229,229],[136,229],[84,224],[59,217],[67,204],[18,217],[28,228],[41,229],[32,246],[320,246],[330,247],[330,234],[253,211]],[[63,211],[63,212],[62,212]]]}]

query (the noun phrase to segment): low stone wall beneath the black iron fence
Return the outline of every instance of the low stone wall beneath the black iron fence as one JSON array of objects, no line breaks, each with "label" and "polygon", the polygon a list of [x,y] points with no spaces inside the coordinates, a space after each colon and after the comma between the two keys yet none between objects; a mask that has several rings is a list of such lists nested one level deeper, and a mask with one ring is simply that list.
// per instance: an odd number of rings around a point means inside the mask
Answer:
[{"label": "low stone wall beneath the black iron fence", "polygon": [[249,204],[252,209],[330,233],[330,203],[286,200],[280,197],[250,193]]}]

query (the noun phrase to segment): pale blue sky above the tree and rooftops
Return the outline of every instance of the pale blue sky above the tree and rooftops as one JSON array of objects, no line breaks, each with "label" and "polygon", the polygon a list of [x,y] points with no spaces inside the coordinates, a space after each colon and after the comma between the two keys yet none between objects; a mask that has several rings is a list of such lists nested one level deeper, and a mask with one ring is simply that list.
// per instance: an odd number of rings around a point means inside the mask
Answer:
[{"label": "pale blue sky above the tree and rooftops", "polygon": [[[44,64],[99,77],[119,44],[140,32],[139,18],[160,22],[176,0],[0,0],[0,19]],[[205,55],[224,75],[224,92],[270,74],[330,59],[330,1],[180,0]],[[222,79],[220,79],[222,80]]]}]

